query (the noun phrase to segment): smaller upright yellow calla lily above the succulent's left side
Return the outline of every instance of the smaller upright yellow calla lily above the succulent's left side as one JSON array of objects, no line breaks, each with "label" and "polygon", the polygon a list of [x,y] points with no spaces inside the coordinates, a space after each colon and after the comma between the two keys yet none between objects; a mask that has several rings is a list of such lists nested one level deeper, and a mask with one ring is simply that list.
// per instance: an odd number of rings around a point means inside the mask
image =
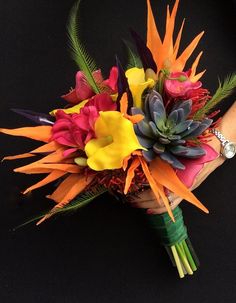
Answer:
[{"label": "smaller upright yellow calla lily above the succulent's left side", "polygon": [[143,68],[133,67],[125,73],[129,87],[134,99],[134,106],[142,107],[142,94],[148,87],[152,88],[155,85],[155,81],[152,78],[145,79],[145,72]]}]

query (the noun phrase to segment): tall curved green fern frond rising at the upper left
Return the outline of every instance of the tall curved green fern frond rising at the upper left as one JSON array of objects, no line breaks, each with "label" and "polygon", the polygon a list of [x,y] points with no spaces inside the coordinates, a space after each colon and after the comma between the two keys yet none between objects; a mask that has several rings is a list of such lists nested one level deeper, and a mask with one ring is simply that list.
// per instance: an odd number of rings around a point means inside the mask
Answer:
[{"label": "tall curved green fern frond rising at the upper left", "polygon": [[72,7],[69,16],[69,22],[67,25],[69,43],[72,53],[72,58],[78,65],[79,69],[84,72],[86,80],[92,87],[93,91],[98,94],[100,93],[99,85],[93,77],[93,72],[97,70],[94,60],[88,55],[85,48],[83,47],[78,32],[79,25],[77,21],[79,11],[80,0]]}]

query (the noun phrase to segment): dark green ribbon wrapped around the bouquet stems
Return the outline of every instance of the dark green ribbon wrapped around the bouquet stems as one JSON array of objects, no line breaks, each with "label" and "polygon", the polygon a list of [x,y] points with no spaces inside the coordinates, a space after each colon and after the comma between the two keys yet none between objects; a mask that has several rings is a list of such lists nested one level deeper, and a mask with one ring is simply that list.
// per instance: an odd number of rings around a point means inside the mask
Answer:
[{"label": "dark green ribbon wrapped around the bouquet stems", "polygon": [[175,222],[171,220],[168,213],[148,215],[148,220],[152,227],[157,231],[161,244],[164,246],[172,246],[188,238],[182,210],[177,206],[172,212]]}]

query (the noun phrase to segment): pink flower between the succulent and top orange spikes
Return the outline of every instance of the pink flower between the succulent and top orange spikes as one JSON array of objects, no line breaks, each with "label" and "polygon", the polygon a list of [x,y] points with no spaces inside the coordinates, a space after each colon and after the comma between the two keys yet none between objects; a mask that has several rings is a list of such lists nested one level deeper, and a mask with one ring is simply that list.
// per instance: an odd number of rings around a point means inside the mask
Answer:
[{"label": "pink flower between the succulent and top orange spikes", "polygon": [[173,98],[184,98],[187,93],[199,89],[201,86],[202,83],[200,81],[190,81],[189,71],[171,73],[169,78],[164,82],[165,91]]}]

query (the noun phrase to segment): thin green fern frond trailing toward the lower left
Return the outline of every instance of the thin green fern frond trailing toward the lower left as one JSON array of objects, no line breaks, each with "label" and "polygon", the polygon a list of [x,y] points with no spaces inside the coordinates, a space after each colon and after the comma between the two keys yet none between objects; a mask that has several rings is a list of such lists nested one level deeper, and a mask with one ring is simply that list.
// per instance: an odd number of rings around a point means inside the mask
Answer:
[{"label": "thin green fern frond trailing toward the lower left", "polygon": [[87,204],[89,204],[94,199],[96,199],[97,197],[99,197],[100,195],[104,194],[107,191],[108,190],[104,186],[98,185],[98,186],[94,187],[93,189],[86,191],[86,192],[82,193],[81,195],[79,195],[77,199],[75,199],[71,203],[67,204],[64,208],[55,207],[51,211],[44,212],[41,215],[34,217],[33,219],[30,219],[27,222],[17,226],[16,228],[14,228],[14,230],[24,227],[32,222],[38,221],[38,220],[44,218],[46,215],[54,216],[57,214],[67,214],[67,213],[75,212],[79,208],[86,206]]}]

